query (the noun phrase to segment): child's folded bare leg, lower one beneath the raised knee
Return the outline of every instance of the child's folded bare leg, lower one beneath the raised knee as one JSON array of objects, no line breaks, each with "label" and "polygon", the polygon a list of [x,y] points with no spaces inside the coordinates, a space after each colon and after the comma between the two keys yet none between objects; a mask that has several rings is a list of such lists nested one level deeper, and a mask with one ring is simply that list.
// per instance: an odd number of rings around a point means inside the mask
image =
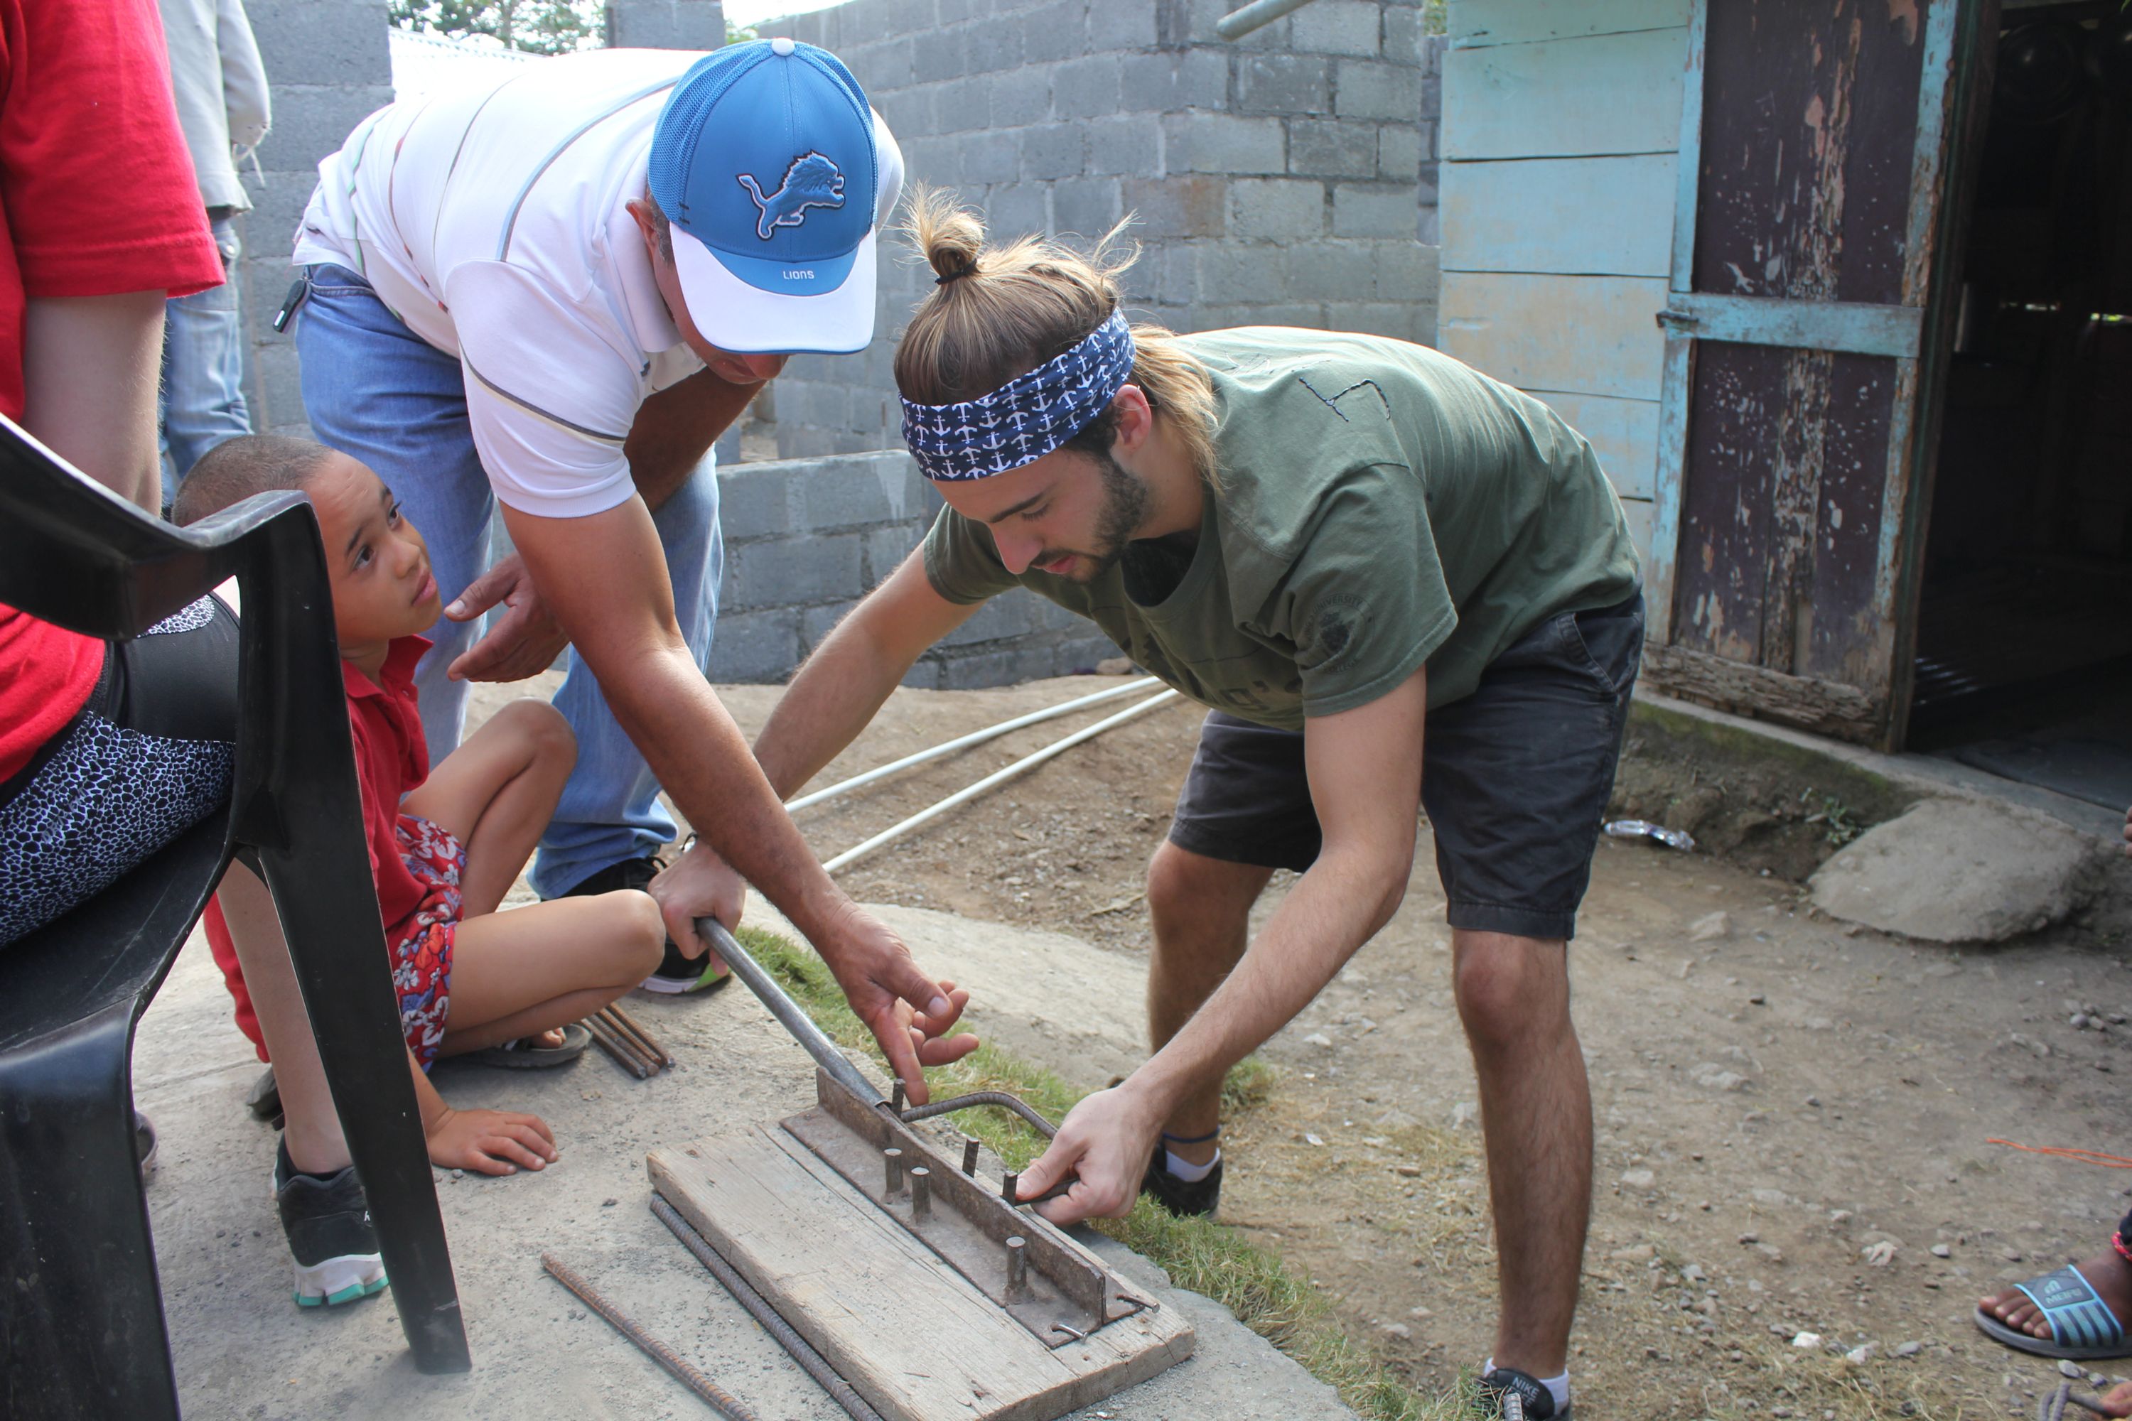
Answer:
[{"label": "child's folded bare leg, lower one beneath the raised knee", "polygon": [[588,1016],[642,982],[663,952],[665,922],[646,893],[463,918],[452,937],[452,1012],[439,1055]]}]

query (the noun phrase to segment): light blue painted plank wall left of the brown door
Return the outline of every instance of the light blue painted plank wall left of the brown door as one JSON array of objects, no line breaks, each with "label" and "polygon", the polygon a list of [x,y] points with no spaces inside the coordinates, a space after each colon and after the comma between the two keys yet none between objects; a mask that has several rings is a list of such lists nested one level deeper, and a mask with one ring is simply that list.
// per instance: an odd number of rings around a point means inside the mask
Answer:
[{"label": "light blue painted plank wall left of the brown door", "polygon": [[1558,409],[1650,550],[1693,0],[1450,0],[1437,345]]}]

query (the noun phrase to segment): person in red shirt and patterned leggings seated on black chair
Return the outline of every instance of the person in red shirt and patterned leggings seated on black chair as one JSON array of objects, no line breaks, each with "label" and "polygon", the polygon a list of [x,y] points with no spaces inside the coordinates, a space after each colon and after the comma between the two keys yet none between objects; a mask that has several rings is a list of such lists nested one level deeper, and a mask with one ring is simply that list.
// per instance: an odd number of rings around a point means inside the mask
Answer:
[{"label": "person in red shirt and patterned leggings seated on black chair", "polygon": [[[0,418],[154,511],[164,300],[222,279],[154,0],[0,0]],[[224,803],[235,735],[237,626],[215,599],[126,643],[0,607],[0,952]],[[307,1270],[375,1291],[377,1234],[273,901],[245,869],[222,895],[279,1063],[298,1291]]]}]

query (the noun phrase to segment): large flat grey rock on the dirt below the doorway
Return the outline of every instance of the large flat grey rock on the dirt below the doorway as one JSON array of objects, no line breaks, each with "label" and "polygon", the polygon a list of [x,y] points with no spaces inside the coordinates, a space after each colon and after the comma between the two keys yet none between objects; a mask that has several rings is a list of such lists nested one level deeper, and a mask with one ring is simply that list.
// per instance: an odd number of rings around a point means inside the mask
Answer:
[{"label": "large flat grey rock on the dirt below the doorway", "polygon": [[1814,908],[1927,942],[2004,942],[2081,905],[2096,846],[2057,820],[1925,799],[1814,873]]}]

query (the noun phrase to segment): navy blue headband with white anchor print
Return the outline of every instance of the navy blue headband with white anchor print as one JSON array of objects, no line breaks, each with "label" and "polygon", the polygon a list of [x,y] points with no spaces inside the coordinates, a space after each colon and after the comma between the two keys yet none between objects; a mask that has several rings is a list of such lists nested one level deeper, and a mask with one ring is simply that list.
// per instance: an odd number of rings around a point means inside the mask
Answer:
[{"label": "navy blue headband with white anchor print", "polygon": [[989,479],[1079,435],[1132,377],[1132,328],[1117,311],[1028,375],[953,405],[904,401],[904,443],[927,479]]}]

